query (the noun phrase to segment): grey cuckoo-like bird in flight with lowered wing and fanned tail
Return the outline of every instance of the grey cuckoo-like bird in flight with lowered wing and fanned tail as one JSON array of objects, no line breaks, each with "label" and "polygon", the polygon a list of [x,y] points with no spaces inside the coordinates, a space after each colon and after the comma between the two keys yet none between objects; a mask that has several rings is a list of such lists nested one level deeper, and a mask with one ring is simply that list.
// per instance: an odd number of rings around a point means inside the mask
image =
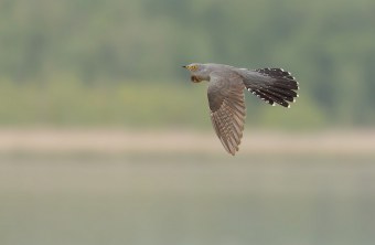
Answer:
[{"label": "grey cuckoo-like bird in flight with lowered wing and fanned tail", "polygon": [[245,89],[272,106],[278,104],[289,108],[298,97],[298,82],[282,68],[248,70],[200,63],[182,67],[190,71],[193,83],[208,82],[211,121],[225,150],[233,156],[243,138]]}]

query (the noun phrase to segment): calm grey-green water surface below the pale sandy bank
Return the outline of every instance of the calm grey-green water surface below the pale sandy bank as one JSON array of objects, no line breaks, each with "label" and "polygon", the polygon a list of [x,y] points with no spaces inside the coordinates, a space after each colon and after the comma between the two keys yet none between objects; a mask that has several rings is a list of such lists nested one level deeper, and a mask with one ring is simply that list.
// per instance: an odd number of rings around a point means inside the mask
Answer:
[{"label": "calm grey-green water surface below the pale sandy bank", "polygon": [[2,156],[0,244],[373,244],[372,156]]}]

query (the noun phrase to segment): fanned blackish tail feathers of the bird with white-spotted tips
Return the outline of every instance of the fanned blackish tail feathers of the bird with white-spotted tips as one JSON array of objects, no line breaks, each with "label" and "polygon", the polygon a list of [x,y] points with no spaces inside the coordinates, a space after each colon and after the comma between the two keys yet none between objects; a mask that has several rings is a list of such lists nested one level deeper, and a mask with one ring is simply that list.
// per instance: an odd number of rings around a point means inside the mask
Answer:
[{"label": "fanned blackish tail feathers of the bird with white-spotted tips", "polygon": [[289,72],[285,72],[282,68],[259,68],[254,72],[269,78],[245,83],[249,92],[272,106],[279,104],[289,108],[289,104],[296,102],[296,97],[298,97],[296,90],[299,89],[299,86]]}]

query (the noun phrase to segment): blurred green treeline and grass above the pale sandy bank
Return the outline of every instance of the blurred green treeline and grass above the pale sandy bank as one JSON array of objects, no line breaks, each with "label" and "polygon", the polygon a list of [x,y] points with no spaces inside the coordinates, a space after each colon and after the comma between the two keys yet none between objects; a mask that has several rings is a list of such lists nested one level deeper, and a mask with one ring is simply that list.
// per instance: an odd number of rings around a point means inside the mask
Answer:
[{"label": "blurred green treeline and grass above the pale sandy bank", "polygon": [[[248,96],[248,124],[375,122],[373,0],[2,0],[0,125],[208,125],[181,65],[283,67],[292,109]],[[205,118],[205,119],[202,119]]]}]

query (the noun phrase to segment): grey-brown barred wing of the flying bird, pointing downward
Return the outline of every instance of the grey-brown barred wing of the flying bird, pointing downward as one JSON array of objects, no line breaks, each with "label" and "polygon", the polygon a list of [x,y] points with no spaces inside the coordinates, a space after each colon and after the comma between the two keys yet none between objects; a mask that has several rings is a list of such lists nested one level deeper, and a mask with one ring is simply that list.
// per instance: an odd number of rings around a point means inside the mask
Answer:
[{"label": "grey-brown barred wing of the flying bird, pointing downward", "polygon": [[243,137],[246,107],[245,85],[236,73],[212,73],[208,85],[211,121],[225,150],[238,151]]}]

